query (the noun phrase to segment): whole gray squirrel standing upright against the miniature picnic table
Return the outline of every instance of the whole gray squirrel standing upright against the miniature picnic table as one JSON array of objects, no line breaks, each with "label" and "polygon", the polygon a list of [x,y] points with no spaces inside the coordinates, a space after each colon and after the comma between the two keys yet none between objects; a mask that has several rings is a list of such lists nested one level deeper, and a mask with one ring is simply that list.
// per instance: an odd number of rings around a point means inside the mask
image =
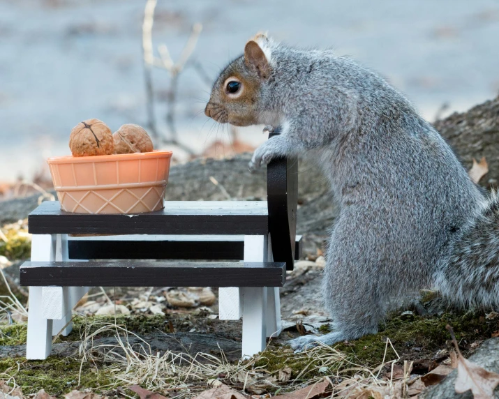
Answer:
[{"label": "whole gray squirrel standing upright against the miniature picnic table", "polygon": [[388,299],[424,287],[456,306],[499,306],[499,195],[482,195],[382,77],[330,50],[258,34],[222,70],[204,112],[235,126],[281,127],[250,169],[311,156],[340,204],[323,283],[333,331],[292,340],[294,349],[376,333]]}]

